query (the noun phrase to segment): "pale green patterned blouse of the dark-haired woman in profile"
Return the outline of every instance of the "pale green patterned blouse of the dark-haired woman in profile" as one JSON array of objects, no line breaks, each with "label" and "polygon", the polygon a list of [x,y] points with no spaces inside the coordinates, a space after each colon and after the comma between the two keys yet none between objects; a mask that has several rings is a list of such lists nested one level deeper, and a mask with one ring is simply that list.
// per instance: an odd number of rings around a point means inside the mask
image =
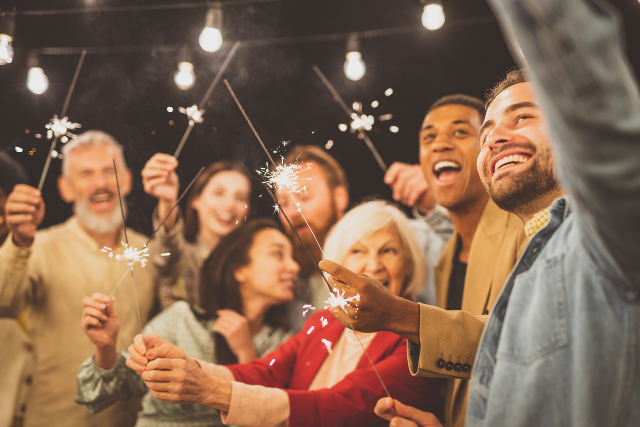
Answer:
[{"label": "pale green patterned blouse of the dark-haired woman in profile", "polygon": [[[214,362],[214,341],[211,327],[214,320],[196,318],[187,302],[173,303],[145,326],[144,334],[156,334],[173,342],[184,350],[188,357]],[[253,346],[258,357],[263,357],[291,337],[291,332],[263,325],[253,337]],[[126,350],[118,354],[111,369],[102,369],[88,357],[78,369],[76,403],[95,413],[119,400],[144,396],[142,411],[138,414],[136,427],[213,427],[222,426],[220,415],[213,408],[195,403],[181,405],[154,398],[148,392],[142,378],[125,365],[129,357]]]}]

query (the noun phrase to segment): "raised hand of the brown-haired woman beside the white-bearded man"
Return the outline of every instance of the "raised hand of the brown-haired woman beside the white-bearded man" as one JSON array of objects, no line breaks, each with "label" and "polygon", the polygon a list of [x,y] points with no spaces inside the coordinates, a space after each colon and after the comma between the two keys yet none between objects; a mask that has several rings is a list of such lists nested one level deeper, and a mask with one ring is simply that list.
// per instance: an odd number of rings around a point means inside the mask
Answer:
[{"label": "raised hand of the brown-haired woman beside the white-bearded man", "polygon": [[[158,218],[167,216],[178,200],[180,180],[175,173],[177,167],[178,161],[175,157],[156,153],[147,161],[141,172],[145,193],[158,199]],[[177,216],[177,211],[173,211],[166,219],[164,222],[166,230],[173,228]]]}]

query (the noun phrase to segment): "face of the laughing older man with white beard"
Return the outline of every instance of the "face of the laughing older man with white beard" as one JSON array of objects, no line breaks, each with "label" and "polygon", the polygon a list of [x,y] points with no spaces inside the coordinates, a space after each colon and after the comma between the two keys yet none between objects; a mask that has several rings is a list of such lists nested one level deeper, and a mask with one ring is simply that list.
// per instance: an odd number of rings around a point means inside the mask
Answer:
[{"label": "face of the laughing older man with white beard", "polygon": [[74,202],[80,222],[95,232],[111,232],[122,226],[113,159],[124,198],[131,191],[131,175],[118,151],[109,145],[76,147],[69,154],[68,169],[63,176],[70,190],[66,201]]}]

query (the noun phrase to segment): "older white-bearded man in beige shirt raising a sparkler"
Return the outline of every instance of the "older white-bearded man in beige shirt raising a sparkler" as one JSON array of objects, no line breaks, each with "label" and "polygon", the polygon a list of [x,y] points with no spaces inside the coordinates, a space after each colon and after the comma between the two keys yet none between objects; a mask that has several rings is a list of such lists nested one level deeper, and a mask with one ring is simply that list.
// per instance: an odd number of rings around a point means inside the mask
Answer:
[{"label": "older white-bearded man in beige shirt raising a sparkler", "polygon": [[[136,399],[95,415],[74,403],[77,368],[93,351],[77,327],[83,297],[110,294],[128,269],[99,250],[107,246],[117,254],[125,240],[113,159],[123,197],[131,191],[131,171],[122,146],[103,132],[82,134],[67,143],[63,154],[58,189],[65,202],[74,204],[71,218],[36,232],[44,200],[38,189],[24,184],[13,188],[4,208],[11,232],[0,248],[0,316],[27,310],[36,354],[24,426],[133,425],[140,407]],[[146,241],[133,230],[127,230],[127,237],[134,248]],[[154,302],[152,268],[136,264],[133,270],[136,289],[127,275],[115,294],[120,348],[140,332],[136,305],[144,325]]]}]

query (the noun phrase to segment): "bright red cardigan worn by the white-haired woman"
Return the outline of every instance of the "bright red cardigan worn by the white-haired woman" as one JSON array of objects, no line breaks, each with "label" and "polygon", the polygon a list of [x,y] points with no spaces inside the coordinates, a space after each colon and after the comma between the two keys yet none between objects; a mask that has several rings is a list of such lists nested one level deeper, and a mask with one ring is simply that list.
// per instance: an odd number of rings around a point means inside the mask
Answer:
[{"label": "bright red cardigan worn by the white-haired woman", "polygon": [[[324,327],[321,318],[328,321]],[[387,394],[365,355],[355,371],[332,388],[308,391],[328,355],[321,339],[335,343],[343,330],[344,326],[333,318],[330,310],[321,310],[307,320],[298,334],[262,359],[227,367],[236,381],[284,389],[289,394],[290,427],[388,425],[373,412],[378,399]],[[392,398],[434,412],[442,419],[444,382],[411,375],[406,361],[406,339],[391,332],[378,332],[367,352]]]}]

